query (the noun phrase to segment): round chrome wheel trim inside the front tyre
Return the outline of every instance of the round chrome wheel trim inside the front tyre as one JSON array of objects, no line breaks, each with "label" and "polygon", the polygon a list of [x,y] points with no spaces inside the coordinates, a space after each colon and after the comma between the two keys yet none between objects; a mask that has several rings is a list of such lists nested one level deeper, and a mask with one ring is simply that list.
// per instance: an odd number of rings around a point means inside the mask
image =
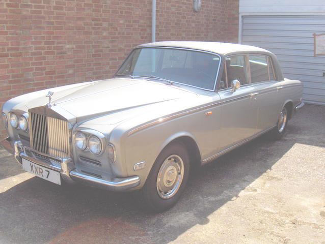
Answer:
[{"label": "round chrome wheel trim inside the front tyre", "polygon": [[184,163],[178,155],[168,156],[160,166],[156,187],[160,198],[173,197],[179,190],[184,176]]}]

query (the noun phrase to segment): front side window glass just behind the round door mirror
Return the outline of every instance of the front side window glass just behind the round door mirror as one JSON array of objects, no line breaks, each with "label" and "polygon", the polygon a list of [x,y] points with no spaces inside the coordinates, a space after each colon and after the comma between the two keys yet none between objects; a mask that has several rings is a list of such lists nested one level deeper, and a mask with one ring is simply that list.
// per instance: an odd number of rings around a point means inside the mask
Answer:
[{"label": "front side window glass just behind the round door mirror", "polygon": [[226,57],[228,87],[231,81],[239,80],[240,85],[248,84],[246,55],[234,55]]}]

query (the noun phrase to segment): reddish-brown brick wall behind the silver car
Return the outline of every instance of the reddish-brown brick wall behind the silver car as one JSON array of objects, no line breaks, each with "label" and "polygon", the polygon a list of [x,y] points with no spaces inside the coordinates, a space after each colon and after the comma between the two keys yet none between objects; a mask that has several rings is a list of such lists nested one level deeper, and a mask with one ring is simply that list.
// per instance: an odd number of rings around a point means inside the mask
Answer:
[{"label": "reddish-brown brick wall behind the silver car", "polygon": [[[157,1],[156,40],[237,42],[239,0]],[[12,97],[110,78],[151,41],[151,0],[0,2],[0,107]],[[3,125],[0,135],[5,134]]]}]

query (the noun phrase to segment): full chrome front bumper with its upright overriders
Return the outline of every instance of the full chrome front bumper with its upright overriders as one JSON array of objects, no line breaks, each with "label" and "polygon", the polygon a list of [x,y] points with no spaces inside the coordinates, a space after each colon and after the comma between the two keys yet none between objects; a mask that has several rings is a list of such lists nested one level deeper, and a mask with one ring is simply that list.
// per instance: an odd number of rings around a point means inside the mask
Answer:
[{"label": "full chrome front bumper with its upright overriders", "polygon": [[[80,181],[89,186],[116,192],[126,191],[140,185],[140,178],[137,175],[126,178],[111,178],[110,180],[106,180],[85,174],[74,167],[74,163],[71,158],[61,159],[43,154],[33,148],[23,146],[19,140],[11,141],[10,137],[7,136],[0,138],[0,145],[7,149],[9,153],[13,154],[16,161],[20,165],[22,164],[22,159],[29,160],[35,164],[60,172],[62,179],[71,184],[73,184],[75,181]],[[35,157],[35,155],[40,158],[47,159],[48,162],[38,159],[38,157]],[[58,164],[56,165],[50,162],[58,162]]]}]

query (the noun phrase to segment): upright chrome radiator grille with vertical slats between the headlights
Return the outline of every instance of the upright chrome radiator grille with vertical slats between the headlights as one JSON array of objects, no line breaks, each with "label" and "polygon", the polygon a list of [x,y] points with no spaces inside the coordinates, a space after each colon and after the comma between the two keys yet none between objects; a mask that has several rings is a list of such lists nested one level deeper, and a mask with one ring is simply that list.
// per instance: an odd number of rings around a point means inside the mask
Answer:
[{"label": "upright chrome radiator grille with vertical slats between the headlights", "polygon": [[31,147],[41,153],[69,158],[68,122],[30,111]]}]

